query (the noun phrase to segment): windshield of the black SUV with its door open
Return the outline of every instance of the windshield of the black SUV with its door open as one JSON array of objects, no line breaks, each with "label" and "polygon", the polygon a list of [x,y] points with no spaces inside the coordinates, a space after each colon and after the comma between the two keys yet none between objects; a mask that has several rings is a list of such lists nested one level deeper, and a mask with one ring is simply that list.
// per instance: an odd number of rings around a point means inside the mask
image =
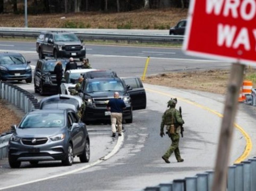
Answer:
[{"label": "windshield of the black SUV with its door open", "polygon": [[86,92],[125,91],[123,84],[116,80],[99,80],[87,84]]}]

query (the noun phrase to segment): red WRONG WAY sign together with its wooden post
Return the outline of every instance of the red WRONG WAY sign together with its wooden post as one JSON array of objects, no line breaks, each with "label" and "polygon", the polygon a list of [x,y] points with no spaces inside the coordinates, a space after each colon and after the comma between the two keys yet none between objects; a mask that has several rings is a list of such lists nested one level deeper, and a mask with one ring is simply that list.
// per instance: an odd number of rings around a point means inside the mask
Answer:
[{"label": "red WRONG WAY sign together with its wooden post", "polygon": [[[191,0],[183,50],[234,64],[227,87],[212,191],[226,190],[227,168],[245,65],[256,63],[256,1]],[[242,64],[240,64],[242,63]]]}]

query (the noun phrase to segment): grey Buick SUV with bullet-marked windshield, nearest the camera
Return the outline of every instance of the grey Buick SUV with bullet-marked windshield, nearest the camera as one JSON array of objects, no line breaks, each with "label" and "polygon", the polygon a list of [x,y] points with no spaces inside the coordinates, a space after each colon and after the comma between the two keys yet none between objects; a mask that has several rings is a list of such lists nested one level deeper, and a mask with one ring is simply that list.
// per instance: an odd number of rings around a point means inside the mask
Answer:
[{"label": "grey Buick SUV with bullet-marked windshield, nearest the camera", "polygon": [[89,135],[72,109],[34,110],[13,128],[8,145],[11,168],[19,168],[22,161],[36,165],[39,161],[61,160],[63,165],[72,165],[74,156],[89,162]]}]

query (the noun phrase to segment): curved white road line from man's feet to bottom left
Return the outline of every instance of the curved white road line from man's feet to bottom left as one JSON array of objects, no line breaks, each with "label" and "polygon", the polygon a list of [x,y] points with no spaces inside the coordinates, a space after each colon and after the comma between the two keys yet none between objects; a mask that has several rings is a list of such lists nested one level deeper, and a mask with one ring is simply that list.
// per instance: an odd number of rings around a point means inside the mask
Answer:
[{"label": "curved white road line from man's feet to bottom left", "polygon": [[68,174],[73,174],[73,173],[85,170],[86,168],[95,166],[95,165],[101,163],[102,161],[108,160],[111,156],[113,156],[115,153],[117,153],[117,151],[121,148],[121,146],[123,144],[123,140],[124,140],[123,137],[124,136],[123,136],[123,133],[122,133],[122,136],[118,137],[117,144],[115,145],[114,149],[110,153],[108,153],[106,156],[101,157],[97,161],[92,162],[89,165],[85,165],[85,166],[83,166],[81,168],[77,168],[77,169],[74,169],[72,171],[64,172],[64,173],[61,173],[61,174],[56,174],[56,175],[53,175],[53,176],[49,176],[49,177],[45,177],[45,178],[40,178],[40,179],[37,179],[37,180],[31,180],[31,181],[28,181],[28,182],[23,182],[23,183],[20,183],[20,184],[15,184],[15,185],[12,185],[12,186],[6,186],[6,187],[3,187],[3,188],[0,188],[0,190],[8,189],[8,188],[14,188],[14,187],[17,187],[17,186],[23,186],[23,185],[26,185],[26,184],[40,182],[40,181],[43,181],[43,180],[49,180],[49,179],[52,179],[52,178],[56,178],[56,177],[60,177],[60,176],[68,175]]}]

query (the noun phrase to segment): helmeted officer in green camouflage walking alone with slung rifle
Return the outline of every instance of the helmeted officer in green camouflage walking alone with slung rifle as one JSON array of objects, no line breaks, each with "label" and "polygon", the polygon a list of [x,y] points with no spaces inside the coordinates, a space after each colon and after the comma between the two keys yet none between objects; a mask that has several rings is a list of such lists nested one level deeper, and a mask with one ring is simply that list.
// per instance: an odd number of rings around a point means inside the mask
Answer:
[{"label": "helmeted officer in green camouflage walking alone with slung rifle", "polygon": [[180,125],[184,124],[184,121],[180,115],[180,112],[175,109],[177,103],[177,99],[170,99],[168,102],[167,107],[168,108],[163,116],[162,116],[162,122],[161,122],[161,129],[160,129],[160,136],[163,137],[164,135],[164,126],[166,126],[167,134],[172,140],[172,144],[166,151],[166,153],[162,156],[162,159],[166,163],[170,163],[168,160],[171,154],[174,151],[175,157],[177,159],[177,162],[183,162],[184,160],[180,156],[180,150],[179,150],[179,140],[180,140]]}]

